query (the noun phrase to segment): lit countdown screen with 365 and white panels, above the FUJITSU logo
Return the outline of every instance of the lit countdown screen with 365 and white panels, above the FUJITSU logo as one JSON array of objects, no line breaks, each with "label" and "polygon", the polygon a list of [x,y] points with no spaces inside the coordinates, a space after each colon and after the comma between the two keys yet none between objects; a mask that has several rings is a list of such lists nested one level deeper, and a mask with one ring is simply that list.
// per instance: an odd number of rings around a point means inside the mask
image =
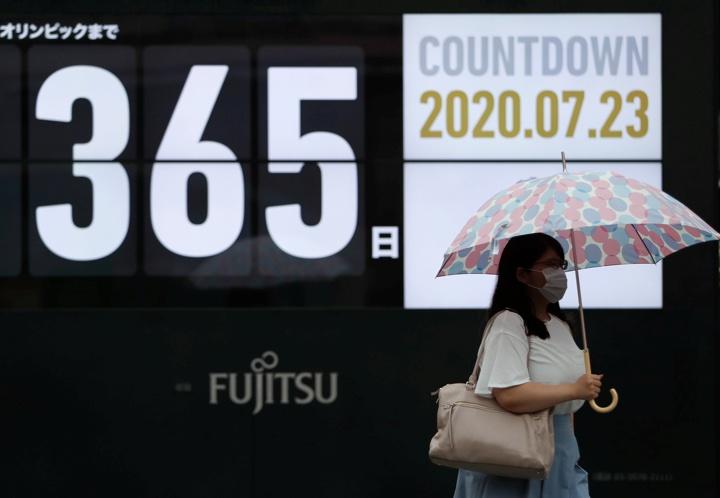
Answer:
[{"label": "lit countdown screen with 365 and white panels, above the FUJITSU logo", "polygon": [[[0,46],[19,307],[485,307],[492,277],[435,274],[495,192],[561,152],[663,186],[660,14],[261,18],[193,43],[187,18],[61,21]],[[590,308],[662,306],[661,264],[583,278]]]}]

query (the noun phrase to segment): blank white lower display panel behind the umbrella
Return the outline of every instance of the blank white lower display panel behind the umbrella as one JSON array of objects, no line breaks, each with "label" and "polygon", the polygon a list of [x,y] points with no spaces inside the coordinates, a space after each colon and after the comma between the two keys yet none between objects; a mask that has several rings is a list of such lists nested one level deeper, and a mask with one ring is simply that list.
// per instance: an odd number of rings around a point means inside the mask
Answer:
[{"label": "blank white lower display panel behind the umbrella", "polygon": [[[496,277],[435,278],[445,250],[486,199],[517,180],[552,175],[559,168],[559,164],[544,163],[405,164],[405,307],[488,308]],[[662,184],[660,163],[570,163],[569,170],[611,170],[658,188]],[[662,262],[581,270],[580,284],[586,308],[662,307]],[[572,273],[568,273],[568,290],[560,305],[578,305]]]}]

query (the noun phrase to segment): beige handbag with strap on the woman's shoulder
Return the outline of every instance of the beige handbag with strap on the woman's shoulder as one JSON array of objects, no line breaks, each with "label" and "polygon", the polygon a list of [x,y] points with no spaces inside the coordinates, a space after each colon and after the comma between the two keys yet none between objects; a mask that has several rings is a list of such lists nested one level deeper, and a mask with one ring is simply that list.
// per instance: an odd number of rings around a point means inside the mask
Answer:
[{"label": "beige handbag with strap on the woman's shoulder", "polygon": [[475,367],[465,384],[446,384],[438,394],[437,433],[430,460],[438,465],[506,477],[545,479],[555,457],[554,407],[515,414],[494,398],[475,394],[480,357],[497,313],[488,320]]}]

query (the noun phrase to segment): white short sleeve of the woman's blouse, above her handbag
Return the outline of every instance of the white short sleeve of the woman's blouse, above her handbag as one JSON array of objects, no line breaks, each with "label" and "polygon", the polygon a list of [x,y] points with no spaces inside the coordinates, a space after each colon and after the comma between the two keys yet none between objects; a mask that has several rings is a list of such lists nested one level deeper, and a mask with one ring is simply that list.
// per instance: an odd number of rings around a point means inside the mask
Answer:
[{"label": "white short sleeve of the woman's blouse, above her handbag", "polygon": [[522,317],[504,311],[495,319],[486,339],[475,393],[492,397],[493,387],[510,387],[530,381],[530,352]]}]

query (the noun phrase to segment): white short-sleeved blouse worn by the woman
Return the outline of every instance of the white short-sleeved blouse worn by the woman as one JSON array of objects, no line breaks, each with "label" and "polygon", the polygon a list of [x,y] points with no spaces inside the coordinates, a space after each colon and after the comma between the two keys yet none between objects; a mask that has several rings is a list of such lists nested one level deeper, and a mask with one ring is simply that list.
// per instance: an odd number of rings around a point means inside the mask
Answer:
[{"label": "white short-sleeved blouse worn by the woman", "polygon": [[[585,373],[582,349],[577,347],[570,327],[556,316],[545,322],[550,337],[527,336],[522,317],[509,310],[500,312],[485,340],[475,393],[492,398],[493,387],[510,387],[525,382],[574,383]],[[555,414],[574,413],[585,400],[555,405]]]}]

